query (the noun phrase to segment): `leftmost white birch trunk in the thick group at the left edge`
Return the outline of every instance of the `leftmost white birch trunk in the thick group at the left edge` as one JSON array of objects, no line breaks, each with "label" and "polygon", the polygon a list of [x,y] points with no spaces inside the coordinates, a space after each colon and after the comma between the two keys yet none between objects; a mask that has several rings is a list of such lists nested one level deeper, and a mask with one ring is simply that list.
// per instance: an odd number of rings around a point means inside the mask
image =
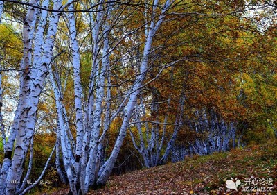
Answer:
[{"label": "leftmost white birch trunk in the thick group at the left edge", "polygon": [[[35,1],[30,1],[30,3],[35,4]],[[19,104],[17,105],[17,110],[15,113],[15,118],[12,124],[12,128],[10,130],[10,136],[8,137],[8,142],[6,144],[5,149],[5,157],[3,160],[3,166],[1,169],[1,178],[0,178],[0,194],[5,194],[6,186],[8,185],[8,169],[10,168],[12,164],[12,150],[14,147],[15,138],[17,135],[17,129],[18,128],[25,128],[26,127],[26,112],[24,112],[27,109],[28,103],[26,99],[28,99],[28,85],[30,82],[30,77],[28,74],[30,73],[29,67],[31,64],[31,41],[33,39],[33,28],[34,28],[34,20],[35,20],[36,10],[35,8],[29,8],[26,19],[24,22],[23,27],[23,42],[24,42],[24,56],[21,60],[21,69],[24,71],[21,73],[21,86],[20,86],[20,99]],[[24,101],[25,100],[25,101]],[[20,115],[19,115],[20,113]],[[23,129],[22,129],[23,130]],[[21,164],[24,161],[24,156],[21,157],[21,160],[19,160],[19,164]],[[15,173],[17,173],[17,176],[21,174],[21,171],[13,170]],[[19,173],[19,174],[18,174]],[[17,179],[18,181],[19,179]],[[17,186],[17,183],[14,183],[10,185],[10,188],[13,188],[13,192],[15,193],[15,187]]]}]

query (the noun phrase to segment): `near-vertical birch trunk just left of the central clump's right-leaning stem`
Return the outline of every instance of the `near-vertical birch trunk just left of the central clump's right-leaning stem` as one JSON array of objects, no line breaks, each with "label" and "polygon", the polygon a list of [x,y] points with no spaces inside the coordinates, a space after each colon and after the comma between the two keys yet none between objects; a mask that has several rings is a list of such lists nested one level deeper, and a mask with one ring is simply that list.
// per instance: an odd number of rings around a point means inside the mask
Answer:
[{"label": "near-vertical birch trunk just left of the central clump's right-leaning stem", "polygon": [[[100,7],[102,8],[102,7]],[[104,15],[102,12],[98,13],[95,30],[99,28],[99,22],[102,20]],[[107,12],[107,17],[109,17],[109,11]],[[102,155],[102,142],[100,138],[100,131],[103,130],[103,135],[107,132],[108,124],[105,124],[104,129],[102,129],[102,119],[101,116],[103,114],[102,103],[105,97],[105,80],[107,78],[107,68],[109,67],[109,26],[107,21],[104,24],[104,33],[103,33],[103,49],[102,49],[102,66],[100,66],[100,61],[93,59],[93,67],[96,66],[97,63],[97,71],[94,71],[95,74],[93,77],[96,80],[96,98],[94,99],[95,107],[92,117],[91,124],[91,144],[89,144],[89,160],[86,164],[85,176],[82,177],[82,193],[86,194],[88,187],[90,185],[96,185],[96,180],[98,176],[98,171],[100,167],[101,155]],[[98,32],[93,31],[93,37],[98,40]],[[95,44],[97,44],[95,42]],[[97,46],[95,46],[96,48]],[[96,51],[94,50],[94,53]],[[109,92],[108,92],[109,93]],[[109,94],[108,94],[109,95]],[[109,101],[109,100],[107,100]],[[109,105],[107,105],[109,106]],[[106,115],[109,115],[109,108],[107,108]],[[109,122],[108,116],[105,116],[105,121]]]}]

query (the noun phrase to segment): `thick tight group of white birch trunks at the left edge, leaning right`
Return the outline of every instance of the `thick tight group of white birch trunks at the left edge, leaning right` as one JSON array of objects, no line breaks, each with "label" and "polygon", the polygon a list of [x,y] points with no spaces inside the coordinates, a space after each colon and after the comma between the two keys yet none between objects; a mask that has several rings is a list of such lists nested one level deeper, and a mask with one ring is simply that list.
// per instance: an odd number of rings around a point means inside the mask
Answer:
[{"label": "thick tight group of white birch trunks at the left edge, leaning right", "polygon": [[[44,1],[42,6],[48,7],[48,1]],[[38,12],[36,7],[37,1],[30,1],[23,25],[24,56],[20,66],[20,98],[5,148],[5,158],[0,177],[1,194],[18,193],[23,164],[30,139],[34,134],[37,104],[44,79],[48,74],[48,65],[51,62],[60,17],[60,12],[52,12],[48,31],[44,33],[48,13]],[[62,1],[53,1],[53,10],[62,10],[62,8]],[[37,15],[40,18],[38,24]]]}]

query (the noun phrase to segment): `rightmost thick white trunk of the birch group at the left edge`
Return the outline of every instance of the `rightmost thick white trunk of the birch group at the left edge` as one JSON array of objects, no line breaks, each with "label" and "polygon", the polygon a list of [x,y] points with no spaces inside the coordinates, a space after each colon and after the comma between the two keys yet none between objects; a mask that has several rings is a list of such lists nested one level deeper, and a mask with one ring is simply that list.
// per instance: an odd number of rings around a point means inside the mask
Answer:
[{"label": "rightmost thick white trunk of the birch group at the left edge", "polygon": [[[36,1],[31,1],[31,3],[36,5]],[[53,8],[58,10],[61,7],[61,5],[62,1],[57,0],[54,2]],[[24,70],[27,72],[25,74],[25,77],[21,79],[21,82],[25,84],[23,85],[24,87],[21,87],[21,90],[23,90],[24,92],[28,92],[28,94],[26,97],[22,98],[21,101],[19,101],[19,105],[20,102],[22,102],[24,105],[26,105],[26,107],[24,106],[20,108],[25,108],[23,110],[24,112],[21,112],[21,115],[19,117],[24,117],[24,119],[21,119],[18,124],[14,156],[6,180],[18,181],[21,178],[21,174],[23,171],[22,165],[26,157],[26,153],[30,143],[30,138],[33,136],[33,131],[35,128],[37,103],[39,101],[39,96],[42,90],[42,85],[44,83],[44,78],[46,77],[46,74],[48,72],[48,65],[51,62],[52,58],[52,49],[55,40],[55,35],[57,32],[57,23],[59,21],[59,17],[60,13],[53,12],[50,18],[48,35],[46,37],[46,42],[44,44],[44,56],[42,57],[42,62],[40,63],[39,69],[37,69],[37,71],[32,71],[33,69],[26,69],[25,67],[28,68],[30,66],[30,52],[32,51],[30,49],[30,42],[33,40],[33,37],[31,37],[31,35],[33,33],[32,24],[33,22],[35,22],[35,9],[30,8],[26,16],[26,22],[24,23],[24,26],[26,26],[26,31],[24,31],[25,42],[23,67]],[[26,47],[28,47],[29,49],[25,52],[25,50],[27,49]],[[32,82],[29,82],[30,84],[26,85],[24,79],[27,80],[26,83],[28,83],[28,80],[30,79],[32,79]],[[15,194],[16,188],[16,183],[8,183],[6,188],[6,194]]]}]

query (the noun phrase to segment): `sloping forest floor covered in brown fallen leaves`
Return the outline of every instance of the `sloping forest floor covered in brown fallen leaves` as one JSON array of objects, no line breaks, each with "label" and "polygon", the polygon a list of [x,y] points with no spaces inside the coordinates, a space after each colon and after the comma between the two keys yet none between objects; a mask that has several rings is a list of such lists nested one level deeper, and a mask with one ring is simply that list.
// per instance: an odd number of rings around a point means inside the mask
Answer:
[{"label": "sloping forest floor covered in brown fallen leaves", "polygon": [[[231,178],[240,180],[238,191],[226,187],[226,180],[236,187]],[[277,194],[277,142],[113,176],[89,194]]]}]

